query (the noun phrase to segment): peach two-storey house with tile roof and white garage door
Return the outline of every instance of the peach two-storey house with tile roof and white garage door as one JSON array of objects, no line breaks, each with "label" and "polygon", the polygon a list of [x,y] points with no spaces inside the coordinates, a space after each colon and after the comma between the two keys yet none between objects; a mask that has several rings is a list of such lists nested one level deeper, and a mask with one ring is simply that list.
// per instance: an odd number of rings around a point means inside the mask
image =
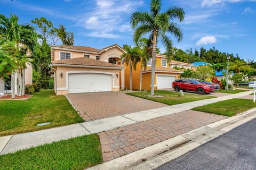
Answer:
[{"label": "peach two-storey house with tile roof and white garage door", "polygon": [[52,72],[57,95],[124,89],[126,51],[117,44],[95,49],[85,46],[52,46]]}]

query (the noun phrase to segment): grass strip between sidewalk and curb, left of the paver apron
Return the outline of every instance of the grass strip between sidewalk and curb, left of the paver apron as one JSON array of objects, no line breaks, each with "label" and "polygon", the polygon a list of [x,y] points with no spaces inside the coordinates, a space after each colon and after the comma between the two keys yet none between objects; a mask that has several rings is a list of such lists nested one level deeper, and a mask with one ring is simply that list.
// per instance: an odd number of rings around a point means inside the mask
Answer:
[{"label": "grass strip between sidewalk and curb, left of the paver apron", "polygon": [[102,163],[97,134],[0,156],[0,169],[84,169]]}]

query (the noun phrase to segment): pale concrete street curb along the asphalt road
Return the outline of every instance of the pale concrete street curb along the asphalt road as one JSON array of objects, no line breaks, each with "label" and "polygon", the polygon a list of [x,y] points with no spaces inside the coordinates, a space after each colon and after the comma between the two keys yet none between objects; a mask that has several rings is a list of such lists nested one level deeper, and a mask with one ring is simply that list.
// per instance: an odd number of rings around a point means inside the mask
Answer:
[{"label": "pale concrete street curb along the asphalt road", "polygon": [[89,168],[154,169],[256,118],[256,108]]}]

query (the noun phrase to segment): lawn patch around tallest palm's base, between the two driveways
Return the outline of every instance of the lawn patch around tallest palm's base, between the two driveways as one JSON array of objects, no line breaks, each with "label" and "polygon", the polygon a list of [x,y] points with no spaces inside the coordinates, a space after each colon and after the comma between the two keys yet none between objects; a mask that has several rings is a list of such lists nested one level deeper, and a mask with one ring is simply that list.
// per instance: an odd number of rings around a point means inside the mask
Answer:
[{"label": "lawn patch around tallest palm's base, between the two driveways", "polygon": [[166,91],[166,90],[156,90],[155,95],[161,95],[164,96],[162,98],[155,98],[155,97],[148,97],[145,95],[149,95],[150,92],[131,92],[127,93],[127,95],[136,96],[148,100],[157,101],[159,103],[164,103],[167,105],[177,105],[181,103],[187,103],[190,101],[196,101],[196,100],[203,100],[203,99],[209,99],[214,98],[212,96],[206,96],[206,95],[197,95],[197,94],[184,94],[184,96],[180,96],[178,92],[172,92],[172,91]]}]

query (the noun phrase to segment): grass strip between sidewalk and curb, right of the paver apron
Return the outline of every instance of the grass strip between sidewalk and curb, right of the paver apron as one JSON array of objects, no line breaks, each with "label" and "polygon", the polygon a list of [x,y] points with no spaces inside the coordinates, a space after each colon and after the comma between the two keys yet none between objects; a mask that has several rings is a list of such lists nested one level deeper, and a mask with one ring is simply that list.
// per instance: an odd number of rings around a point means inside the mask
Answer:
[{"label": "grass strip between sidewalk and curb, right of the paver apron", "polygon": [[234,116],[237,113],[242,113],[253,107],[256,107],[256,103],[250,99],[229,99],[225,101],[219,101],[217,103],[199,106],[193,108],[194,111],[201,111],[207,113],[213,113],[224,116]]}]

